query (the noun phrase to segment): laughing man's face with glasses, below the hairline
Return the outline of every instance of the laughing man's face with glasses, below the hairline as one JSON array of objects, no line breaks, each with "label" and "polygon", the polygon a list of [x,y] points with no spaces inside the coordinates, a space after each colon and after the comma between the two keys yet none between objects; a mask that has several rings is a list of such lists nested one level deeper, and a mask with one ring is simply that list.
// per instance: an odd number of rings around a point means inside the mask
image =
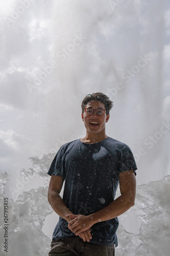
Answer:
[{"label": "laughing man's face with glasses, below the hairline", "polygon": [[[97,109],[105,109],[104,103],[99,100],[91,100],[85,106],[85,109],[92,108],[93,110]],[[98,134],[101,132],[105,132],[105,124],[109,120],[109,115],[106,115],[106,112],[99,116],[95,113],[95,111],[91,115],[87,115],[85,112],[82,114],[82,120],[86,127],[87,132]]]}]

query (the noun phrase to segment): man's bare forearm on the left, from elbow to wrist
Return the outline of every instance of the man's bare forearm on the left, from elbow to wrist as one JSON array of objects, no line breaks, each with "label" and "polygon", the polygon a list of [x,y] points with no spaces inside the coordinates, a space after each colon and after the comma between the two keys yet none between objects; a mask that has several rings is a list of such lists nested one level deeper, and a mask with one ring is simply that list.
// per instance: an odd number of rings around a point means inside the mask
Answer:
[{"label": "man's bare forearm on the left, from elbow to wrist", "polygon": [[51,191],[51,193],[48,194],[48,202],[50,203],[56,214],[58,214],[61,218],[68,222],[71,220],[68,215],[72,214],[72,212],[66,207],[63,199],[57,191],[53,190]]}]

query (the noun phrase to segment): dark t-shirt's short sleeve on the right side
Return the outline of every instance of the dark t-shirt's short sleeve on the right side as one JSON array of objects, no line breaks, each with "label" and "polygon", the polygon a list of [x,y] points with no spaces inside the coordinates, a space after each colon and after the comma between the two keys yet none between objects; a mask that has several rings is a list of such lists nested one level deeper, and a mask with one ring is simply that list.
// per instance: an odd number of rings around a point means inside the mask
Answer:
[{"label": "dark t-shirt's short sleeve on the right side", "polygon": [[119,149],[119,172],[125,172],[127,170],[134,169],[134,173],[136,175],[135,170],[137,169],[136,162],[130,147],[124,144]]}]

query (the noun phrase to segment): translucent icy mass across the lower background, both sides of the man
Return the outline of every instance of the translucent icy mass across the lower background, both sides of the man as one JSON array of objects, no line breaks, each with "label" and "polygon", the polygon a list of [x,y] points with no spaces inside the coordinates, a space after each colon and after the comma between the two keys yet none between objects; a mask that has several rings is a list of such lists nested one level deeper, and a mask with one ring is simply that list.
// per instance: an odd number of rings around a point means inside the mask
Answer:
[{"label": "translucent icy mass across the lower background, both sides of the man", "polygon": [[[46,175],[47,166],[50,165],[53,157],[54,154],[48,154],[41,159],[31,159],[34,170],[40,178],[46,181],[44,187],[23,192],[16,201],[9,199],[8,254],[4,252],[3,248],[4,187],[8,185],[8,176],[7,174],[1,175],[0,234],[2,256],[45,256],[48,254],[51,239],[42,232],[42,226],[45,217],[53,212],[47,202],[47,182],[49,178]],[[137,186],[135,206],[119,217],[116,256],[169,255],[169,191],[170,176]],[[127,224],[128,220],[130,229]],[[129,231],[133,230],[134,225],[138,226],[138,232]]]}]

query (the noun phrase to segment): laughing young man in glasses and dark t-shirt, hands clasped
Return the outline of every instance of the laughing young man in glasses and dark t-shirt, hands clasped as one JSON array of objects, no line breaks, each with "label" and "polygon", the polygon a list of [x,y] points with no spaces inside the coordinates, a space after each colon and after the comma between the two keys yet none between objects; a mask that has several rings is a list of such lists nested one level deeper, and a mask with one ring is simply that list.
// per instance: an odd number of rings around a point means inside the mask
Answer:
[{"label": "laughing young man in glasses and dark t-shirt, hands clasped", "polygon": [[[48,170],[48,202],[60,216],[49,256],[114,255],[117,216],[134,205],[137,167],[130,148],[105,133],[112,106],[103,93],[87,95],[85,137],[61,146]],[[121,195],[114,200],[118,183]]]}]

